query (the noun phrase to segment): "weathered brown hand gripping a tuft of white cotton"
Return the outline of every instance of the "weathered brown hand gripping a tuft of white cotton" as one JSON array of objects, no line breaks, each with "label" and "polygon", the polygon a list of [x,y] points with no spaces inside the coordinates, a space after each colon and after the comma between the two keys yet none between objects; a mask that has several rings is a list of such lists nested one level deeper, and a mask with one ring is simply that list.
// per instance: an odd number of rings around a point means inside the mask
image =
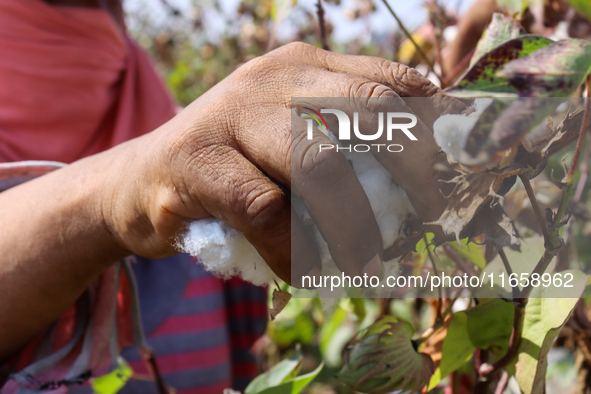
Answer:
[{"label": "weathered brown hand gripping a tuft of white cotton", "polygon": [[[344,156],[309,154],[309,142],[296,140],[303,145],[294,146],[292,157],[291,98],[433,95],[440,89],[404,65],[302,43],[284,46],[246,63],[169,123],[121,148],[133,151],[122,153],[129,157],[122,174],[134,174],[137,182],[115,185],[103,207],[106,223],[125,250],[159,257],[173,253],[174,238],[189,220],[215,216],[242,231],[291,282],[290,262],[305,275],[319,267],[319,256],[281,186],[304,197],[341,270],[379,275],[379,228]],[[413,132],[419,144],[378,160],[420,218],[434,221],[446,205],[434,168],[440,149],[421,122]]]}]

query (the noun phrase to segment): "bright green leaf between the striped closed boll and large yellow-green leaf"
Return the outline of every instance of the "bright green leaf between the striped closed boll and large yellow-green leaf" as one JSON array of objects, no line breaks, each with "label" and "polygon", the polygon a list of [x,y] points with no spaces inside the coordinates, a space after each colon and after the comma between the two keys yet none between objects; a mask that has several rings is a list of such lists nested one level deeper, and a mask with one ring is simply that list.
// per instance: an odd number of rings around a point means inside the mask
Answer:
[{"label": "bright green leaf between the striped closed boll and large yellow-green leaf", "polygon": [[456,313],[447,329],[439,368],[429,382],[429,390],[472,358],[476,349],[502,357],[513,329],[513,304],[495,298],[475,308]]}]

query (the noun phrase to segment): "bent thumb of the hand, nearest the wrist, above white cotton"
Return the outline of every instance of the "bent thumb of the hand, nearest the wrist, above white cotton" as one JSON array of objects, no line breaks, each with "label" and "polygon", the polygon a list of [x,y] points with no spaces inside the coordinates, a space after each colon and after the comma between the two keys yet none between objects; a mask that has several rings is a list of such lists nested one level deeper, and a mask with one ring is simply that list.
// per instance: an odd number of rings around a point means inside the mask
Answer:
[{"label": "bent thumb of the hand, nearest the wrist, above white cotton", "polygon": [[316,245],[288,196],[235,149],[212,147],[187,168],[189,194],[212,215],[242,231],[282,280],[292,283],[291,265],[299,275],[320,266]]}]

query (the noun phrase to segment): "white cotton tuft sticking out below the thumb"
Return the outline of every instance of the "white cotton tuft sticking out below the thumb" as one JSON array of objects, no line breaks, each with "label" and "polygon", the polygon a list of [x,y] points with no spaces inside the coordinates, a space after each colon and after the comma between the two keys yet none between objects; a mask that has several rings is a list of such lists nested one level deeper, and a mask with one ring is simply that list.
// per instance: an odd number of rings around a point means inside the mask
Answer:
[{"label": "white cotton tuft sticking out below the thumb", "polygon": [[216,276],[227,279],[239,275],[259,286],[276,279],[244,234],[219,219],[192,222],[177,246],[199,258],[205,268]]}]

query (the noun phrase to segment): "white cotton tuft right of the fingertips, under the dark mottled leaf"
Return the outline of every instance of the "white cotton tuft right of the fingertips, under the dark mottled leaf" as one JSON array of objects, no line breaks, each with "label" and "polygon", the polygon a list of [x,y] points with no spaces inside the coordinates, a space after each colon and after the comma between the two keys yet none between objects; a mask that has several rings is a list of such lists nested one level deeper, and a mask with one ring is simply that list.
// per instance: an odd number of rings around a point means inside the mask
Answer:
[{"label": "white cotton tuft right of the fingertips, under the dark mottled leaf", "polygon": [[443,115],[433,124],[433,135],[437,144],[454,161],[459,162],[470,131],[476,125],[478,118],[493,102],[492,98],[477,98],[474,100],[474,112],[469,115]]}]

